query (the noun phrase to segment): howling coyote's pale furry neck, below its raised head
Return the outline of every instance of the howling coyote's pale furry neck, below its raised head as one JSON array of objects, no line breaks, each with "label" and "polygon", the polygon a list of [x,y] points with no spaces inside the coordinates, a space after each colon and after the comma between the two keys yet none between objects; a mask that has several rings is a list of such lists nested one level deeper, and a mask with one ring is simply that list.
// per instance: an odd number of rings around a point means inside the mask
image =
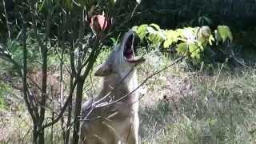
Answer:
[{"label": "howling coyote's pale furry neck, below its raised head", "polygon": [[109,94],[111,98],[118,99],[130,94],[129,97],[124,99],[137,99],[138,94],[135,89],[138,87],[138,78],[136,70],[133,70],[125,79],[122,79],[118,76],[104,78],[103,88],[99,97],[102,98]]}]

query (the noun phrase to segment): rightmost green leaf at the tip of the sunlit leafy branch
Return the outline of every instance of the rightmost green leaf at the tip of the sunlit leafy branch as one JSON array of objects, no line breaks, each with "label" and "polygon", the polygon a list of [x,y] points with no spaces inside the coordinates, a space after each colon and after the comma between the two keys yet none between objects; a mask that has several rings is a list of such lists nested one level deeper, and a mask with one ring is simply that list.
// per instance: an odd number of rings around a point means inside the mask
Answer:
[{"label": "rightmost green leaf at the tip of the sunlit leafy branch", "polygon": [[226,42],[227,39],[233,42],[233,35],[229,26],[218,26],[218,34],[222,38],[222,42]]}]

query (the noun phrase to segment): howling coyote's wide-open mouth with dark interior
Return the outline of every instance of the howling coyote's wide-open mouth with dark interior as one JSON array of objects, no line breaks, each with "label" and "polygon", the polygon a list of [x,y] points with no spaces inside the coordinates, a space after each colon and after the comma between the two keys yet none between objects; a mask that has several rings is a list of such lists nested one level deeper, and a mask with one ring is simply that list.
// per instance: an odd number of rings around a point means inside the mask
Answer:
[{"label": "howling coyote's wide-open mouth with dark interior", "polygon": [[134,52],[134,34],[130,34],[128,38],[126,38],[126,42],[124,44],[123,56],[127,62],[144,62],[144,58],[138,58],[135,56]]}]

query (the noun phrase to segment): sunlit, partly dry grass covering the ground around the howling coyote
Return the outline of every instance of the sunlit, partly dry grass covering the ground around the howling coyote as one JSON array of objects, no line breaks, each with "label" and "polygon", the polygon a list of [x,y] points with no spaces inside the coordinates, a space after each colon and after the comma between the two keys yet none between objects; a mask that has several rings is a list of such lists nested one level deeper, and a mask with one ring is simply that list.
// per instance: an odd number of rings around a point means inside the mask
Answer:
[{"label": "sunlit, partly dry grass covering the ground around the howling coyote", "polygon": [[[97,65],[106,58],[104,51]],[[162,69],[171,58],[148,54],[138,67],[139,82]],[[96,68],[97,66],[95,66]],[[140,136],[143,144],[249,144],[256,142],[256,71],[226,70],[220,66],[210,75],[188,72],[177,64],[142,86]],[[86,80],[86,95],[95,94],[99,78]],[[1,117],[0,143],[29,143],[28,114]],[[3,137],[5,136],[5,137]],[[1,138],[2,137],[2,138]],[[52,141],[50,129],[46,142]],[[61,129],[54,126],[53,143],[62,143]]]}]

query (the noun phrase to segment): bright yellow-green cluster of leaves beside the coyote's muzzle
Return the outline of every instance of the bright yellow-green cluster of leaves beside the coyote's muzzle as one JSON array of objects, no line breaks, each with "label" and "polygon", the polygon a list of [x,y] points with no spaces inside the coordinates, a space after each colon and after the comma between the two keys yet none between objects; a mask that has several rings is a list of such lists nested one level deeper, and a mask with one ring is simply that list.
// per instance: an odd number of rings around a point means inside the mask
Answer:
[{"label": "bright yellow-green cluster of leaves beside the coyote's muzzle", "polygon": [[202,62],[204,59],[203,52],[209,46],[214,46],[214,42],[232,42],[233,36],[228,26],[218,26],[217,30],[210,30],[209,26],[201,27],[184,27],[177,30],[162,30],[156,24],[134,26],[132,28],[142,42],[161,46],[167,51],[177,51],[186,58]]}]

